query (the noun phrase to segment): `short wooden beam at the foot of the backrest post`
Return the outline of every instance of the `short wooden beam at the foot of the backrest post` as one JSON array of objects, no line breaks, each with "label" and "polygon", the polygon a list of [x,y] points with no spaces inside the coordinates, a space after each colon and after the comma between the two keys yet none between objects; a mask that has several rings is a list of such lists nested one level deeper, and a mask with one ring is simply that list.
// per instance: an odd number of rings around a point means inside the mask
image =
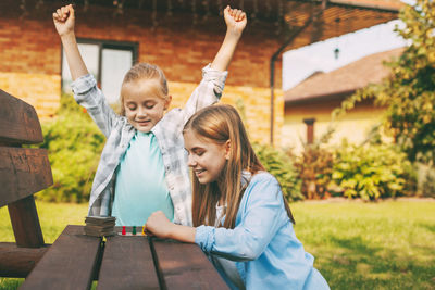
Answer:
[{"label": "short wooden beam at the foot of the backrest post", "polygon": [[18,248],[14,242],[0,242],[0,277],[27,277],[48,247],[30,249]]}]

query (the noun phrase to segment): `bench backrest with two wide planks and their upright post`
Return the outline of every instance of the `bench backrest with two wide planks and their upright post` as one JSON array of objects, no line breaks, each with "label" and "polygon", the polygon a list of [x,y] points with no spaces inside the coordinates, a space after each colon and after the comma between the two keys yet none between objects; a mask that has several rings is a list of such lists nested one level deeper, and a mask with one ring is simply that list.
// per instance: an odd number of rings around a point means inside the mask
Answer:
[{"label": "bench backrest with two wide planks and their upright post", "polygon": [[53,184],[47,150],[22,148],[44,141],[38,115],[0,90],[0,207],[8,205],[16,245],[45,244],[33,193]]}]

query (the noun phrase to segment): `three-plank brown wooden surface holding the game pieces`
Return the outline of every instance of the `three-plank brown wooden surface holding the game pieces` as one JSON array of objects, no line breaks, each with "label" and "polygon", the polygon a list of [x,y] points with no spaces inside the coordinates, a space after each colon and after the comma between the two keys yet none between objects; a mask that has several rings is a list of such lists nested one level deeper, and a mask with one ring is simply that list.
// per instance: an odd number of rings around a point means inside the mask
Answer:
[{"label": "three-plank brown wooden surface holding the game pieces", "polygon": [[20,289],[89,289],[97,279],[97,289],[228,289],[196,244],[140,230],[103,240],[75,225],[66,226]]}]

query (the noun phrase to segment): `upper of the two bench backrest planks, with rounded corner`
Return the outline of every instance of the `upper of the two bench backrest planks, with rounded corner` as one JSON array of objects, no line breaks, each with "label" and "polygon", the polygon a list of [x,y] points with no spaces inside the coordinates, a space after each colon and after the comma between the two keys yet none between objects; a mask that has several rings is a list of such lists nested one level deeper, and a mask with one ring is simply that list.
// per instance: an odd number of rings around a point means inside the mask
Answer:
[{"label": "upper of the two bench backrest planks, with rounded corner", "polygon": [[18,144],[44,142],[35,109],[1,89],[0,142]]}]

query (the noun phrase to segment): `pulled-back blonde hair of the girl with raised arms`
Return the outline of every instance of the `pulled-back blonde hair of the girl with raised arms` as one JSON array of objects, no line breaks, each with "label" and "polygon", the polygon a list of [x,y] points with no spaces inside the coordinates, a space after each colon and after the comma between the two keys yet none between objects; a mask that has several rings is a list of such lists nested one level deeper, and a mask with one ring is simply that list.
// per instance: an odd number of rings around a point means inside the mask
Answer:
[{"label": "pulled-back blonde hair of the girl with raised arms", "polygon": [[154,64],[137,63],[134,66],[132,66],[132,68],[129,68],[129,71],[125,74],[124,80],[122,83],[120,102],[121,102],[121,115],[123,116],[125,116],[123,88],[126,84],[139,79],[157,80],[158,86],[153,88],[152,92],[159,98],[162,98],[164,100],[169,96],[167,80],[166,77],[164,76],[163,71]]}]

